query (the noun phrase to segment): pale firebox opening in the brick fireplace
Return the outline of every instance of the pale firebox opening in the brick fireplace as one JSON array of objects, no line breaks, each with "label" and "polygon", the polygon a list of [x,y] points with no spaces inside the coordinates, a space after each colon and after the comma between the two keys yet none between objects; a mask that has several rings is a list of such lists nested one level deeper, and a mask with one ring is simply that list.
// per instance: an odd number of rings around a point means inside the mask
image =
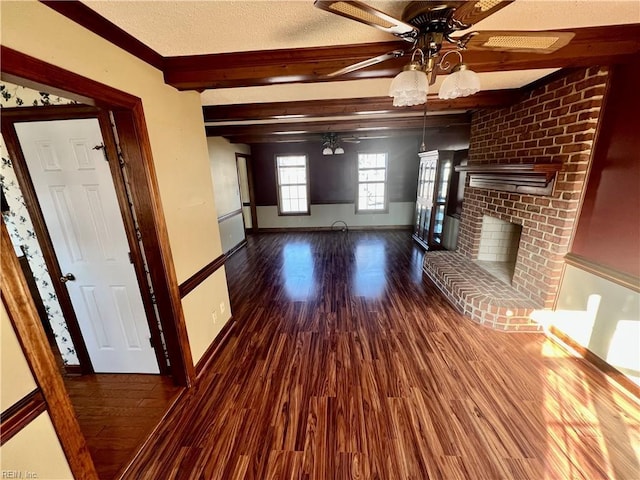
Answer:
[{"label": "pale firebox opening in the brick fireplace", "polygon": [[522,225],[485,215],[482,218],[477,264],[511,285],[521,233]]}]

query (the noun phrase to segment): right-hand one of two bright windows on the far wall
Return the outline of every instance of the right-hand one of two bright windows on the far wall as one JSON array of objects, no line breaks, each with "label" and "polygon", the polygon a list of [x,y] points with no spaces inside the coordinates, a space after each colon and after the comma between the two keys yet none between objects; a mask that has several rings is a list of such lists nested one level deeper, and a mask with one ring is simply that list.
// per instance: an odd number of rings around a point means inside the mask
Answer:
[{"label": "right-hand one of two bright windows on the far wall", "polygon": [[358,154],[357,212],[387,210],[387,154]]}]

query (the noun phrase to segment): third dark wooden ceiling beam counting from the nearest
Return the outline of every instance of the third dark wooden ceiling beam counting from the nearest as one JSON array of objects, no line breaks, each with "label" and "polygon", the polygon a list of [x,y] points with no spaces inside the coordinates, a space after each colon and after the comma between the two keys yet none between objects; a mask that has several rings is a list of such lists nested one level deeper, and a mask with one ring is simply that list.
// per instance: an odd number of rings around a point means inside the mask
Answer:
[{"label": "third dark wooden ceiling beam counting from the nearest", "polygon": [[[249,125],[220,125],[206,127],[207,136],[225,137],[232,139],[238,136],[266,136],[271,135],[272,141],[276,139],[290,140],[290,135],[326,132],[348,133],[350,135],[362,132],[385,132],[387,130],[421,129],[423,117],[395,117],[375,119],[353,119],[336,122],[334,120],[271,123]],[[467,126],[471,122],[471,116],[467,113],[455,115],[433,115],[426,118],[427,128],[449,128],[458,125]],[[279,133],[286,132],[286,133]],[[293,133],[296,132],[296,133]]]}]

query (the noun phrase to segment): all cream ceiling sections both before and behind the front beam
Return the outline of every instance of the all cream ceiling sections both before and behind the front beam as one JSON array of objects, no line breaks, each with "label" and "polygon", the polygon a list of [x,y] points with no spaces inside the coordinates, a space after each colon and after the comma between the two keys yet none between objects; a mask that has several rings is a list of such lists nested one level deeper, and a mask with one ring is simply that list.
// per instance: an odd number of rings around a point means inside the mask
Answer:
[{"label": "all cream ceiling sections both before and behind the front beam", "polygon": [[[332,15],[313,0],[85,0],[90,8],[163,56],[393,41],[374,28]],[[407,2],[368,4],[400,16]],[[473,30],[548,30],[640,23],[640,0],[517,0]],[[482,89],[524,86],[552,69],[481,74]],[[204,105],[386,95],[389,79],[208,90]],[[338,88],[339,87],[339,88]],[[436,87],[437,88],[437,87]]]}]

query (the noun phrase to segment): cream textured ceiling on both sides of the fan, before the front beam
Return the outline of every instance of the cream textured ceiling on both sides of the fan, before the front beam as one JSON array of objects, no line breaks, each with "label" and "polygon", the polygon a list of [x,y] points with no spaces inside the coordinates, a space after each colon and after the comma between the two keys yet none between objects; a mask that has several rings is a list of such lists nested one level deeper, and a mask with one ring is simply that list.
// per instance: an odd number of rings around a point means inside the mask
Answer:
[{"label": "cream textured ceiling on both sides of the fan, before the front beam", "polygon": [[[295,1],[85,1],[163,56],[394,40]],[[400,16],[407,2],[366,2]],[[517,0],[473,30],[545,30],[640,22],[640,1]]]}]

